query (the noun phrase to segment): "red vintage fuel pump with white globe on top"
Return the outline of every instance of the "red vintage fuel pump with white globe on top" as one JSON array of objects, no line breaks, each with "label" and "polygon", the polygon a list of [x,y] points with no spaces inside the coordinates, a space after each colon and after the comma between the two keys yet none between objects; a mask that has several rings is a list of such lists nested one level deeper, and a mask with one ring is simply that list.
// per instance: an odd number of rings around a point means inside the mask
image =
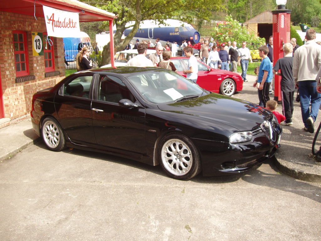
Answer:
[{"label": "red vintage fuel pump with white globe on top", "polygon": [[[276,0],[278,9],[273,14],[273,66],[283,58],[283,44],[290,42],[291,10],[285,9],[286,0]],[[274,78],[274,100],[281,101],[281,76]]]}]

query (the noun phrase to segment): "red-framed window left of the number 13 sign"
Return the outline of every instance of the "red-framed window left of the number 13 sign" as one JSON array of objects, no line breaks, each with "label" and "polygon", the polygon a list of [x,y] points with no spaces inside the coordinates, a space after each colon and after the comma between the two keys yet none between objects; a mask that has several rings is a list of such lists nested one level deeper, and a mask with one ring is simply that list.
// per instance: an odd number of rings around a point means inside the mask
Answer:
[{"label": "red-framed window left of the number 13 sign", "polygon": [[[15,35],[17,38],[15,38]],[[13,50],[14,50],[14,66],[16,68],[16,76],[29,75],[29,58],[27,49],[27,33],[24,31],[13,31]],[[22,39],[21,39],[22,37]],[[25,69],[23,69],[25,66]]]}]

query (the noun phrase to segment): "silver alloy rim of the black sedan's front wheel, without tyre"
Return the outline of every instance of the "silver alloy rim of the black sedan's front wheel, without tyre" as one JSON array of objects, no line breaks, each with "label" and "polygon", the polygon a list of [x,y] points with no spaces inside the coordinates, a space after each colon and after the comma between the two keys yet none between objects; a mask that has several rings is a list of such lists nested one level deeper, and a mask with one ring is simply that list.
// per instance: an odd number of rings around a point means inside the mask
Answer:
[{"label": "silver alloy rim of the black sedan's front wheel, without tyre", "polygon": [[193,164],[191,149],[180,139],[169,139],[164,143],[161,160],[166,170],[177,176],[187,174]]}]

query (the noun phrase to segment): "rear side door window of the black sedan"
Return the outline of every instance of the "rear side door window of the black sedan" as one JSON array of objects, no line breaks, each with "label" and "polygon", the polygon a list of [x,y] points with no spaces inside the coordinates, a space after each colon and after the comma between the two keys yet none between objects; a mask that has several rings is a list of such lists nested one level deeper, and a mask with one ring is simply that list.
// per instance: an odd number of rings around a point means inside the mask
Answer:
[{"label": "rear side door window of the black sedan", "polygon": [[90,99],[92,76],[77,76],[64,85],[63,94]]}]

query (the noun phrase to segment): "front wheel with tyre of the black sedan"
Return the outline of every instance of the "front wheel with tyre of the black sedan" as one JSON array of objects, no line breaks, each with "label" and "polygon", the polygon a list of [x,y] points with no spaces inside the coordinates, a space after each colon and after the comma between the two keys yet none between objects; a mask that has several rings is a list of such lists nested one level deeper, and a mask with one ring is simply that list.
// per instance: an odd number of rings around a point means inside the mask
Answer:
[{"label": "front wheel with tyre of the black sedan", "polygon": [[160,165],[167,175],[188,180],[201,172],[198,150],[185,136],[169,134],[160,142]]}]

